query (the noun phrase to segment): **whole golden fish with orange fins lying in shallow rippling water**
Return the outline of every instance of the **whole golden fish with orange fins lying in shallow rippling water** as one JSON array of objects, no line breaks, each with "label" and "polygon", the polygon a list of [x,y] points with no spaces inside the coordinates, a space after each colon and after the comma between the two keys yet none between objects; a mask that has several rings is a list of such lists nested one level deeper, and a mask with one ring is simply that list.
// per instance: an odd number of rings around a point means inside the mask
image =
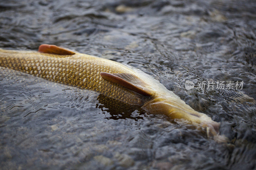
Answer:
[{"label": "whole golden fish with orange fins lying in shallow rippling water", "polygon": [[57,46],[40,47],[40,52],[0,49],[0,66],[93,90],[129,105],[139,105],[148,113],[185,119],[206,128],[209,136],[220,138],[220,123],[192,109],[148,74],[122,63],[65,51]]}]

